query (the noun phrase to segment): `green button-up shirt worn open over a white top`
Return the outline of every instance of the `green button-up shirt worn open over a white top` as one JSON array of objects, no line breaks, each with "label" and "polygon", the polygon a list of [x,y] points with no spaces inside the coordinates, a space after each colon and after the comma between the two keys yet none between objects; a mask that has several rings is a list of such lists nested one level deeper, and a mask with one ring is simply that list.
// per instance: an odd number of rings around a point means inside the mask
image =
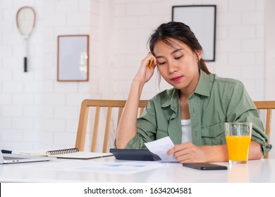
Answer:
[{"label": "green button-up shirt worn open over a white top", "polygon": [[[226,144],[224,122],[252,122],[252,140],[262,146],[268,136],[259,112],[245,87],[238,80],[207,75],[200,70],[195,92],[188,98],[192,143],[196,146]],[[146,149],[145,142],[170,136],[174,144],[181,144],[181,107],[178,89],[162,91],[149,100],[137,122],[138,134],[126,148]]]}]

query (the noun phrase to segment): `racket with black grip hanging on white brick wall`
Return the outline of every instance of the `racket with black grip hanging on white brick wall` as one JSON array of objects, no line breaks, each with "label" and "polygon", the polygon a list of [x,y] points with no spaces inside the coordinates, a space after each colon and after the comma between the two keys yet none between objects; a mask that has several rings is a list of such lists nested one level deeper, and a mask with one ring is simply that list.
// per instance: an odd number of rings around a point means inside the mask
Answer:
[{"label": "racket with black grip hanging on white brick wall", "polygon": [[30,6],[20,8],[16,13],[16,25],[18,31],[23,36],[24,42],[24,72],[27,72],[27,40],[35,28],[35,10]]}]

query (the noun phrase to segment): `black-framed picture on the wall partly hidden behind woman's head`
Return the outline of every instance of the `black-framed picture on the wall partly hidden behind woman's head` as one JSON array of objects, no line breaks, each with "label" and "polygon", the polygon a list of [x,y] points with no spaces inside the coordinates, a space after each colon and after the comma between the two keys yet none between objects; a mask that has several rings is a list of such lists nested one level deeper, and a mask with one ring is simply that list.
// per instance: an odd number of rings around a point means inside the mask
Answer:
[{"label": "black-framed picture on the wall partly hidden behind woman's head", "polygon": [[206,61],[215,61],[216,6],[172,6],[172,21],[188,25],[199,40]]}]

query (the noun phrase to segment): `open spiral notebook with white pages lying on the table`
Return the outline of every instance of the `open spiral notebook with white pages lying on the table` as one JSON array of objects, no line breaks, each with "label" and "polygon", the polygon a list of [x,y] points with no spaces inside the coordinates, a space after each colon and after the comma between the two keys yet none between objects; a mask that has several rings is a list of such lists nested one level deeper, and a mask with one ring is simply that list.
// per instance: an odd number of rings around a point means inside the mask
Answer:
[{"label": "open spiral notebook with white pages lying on the table", "polygon": [[112,153],[95,153],[95,152],[82,152],[78,148],[65,148],[59,150],[45,151],[41,153],[29,153],[32,155],[47,155],[54,158],[67,158],[67,159],[92,159],[104,158],[112,156]]}]

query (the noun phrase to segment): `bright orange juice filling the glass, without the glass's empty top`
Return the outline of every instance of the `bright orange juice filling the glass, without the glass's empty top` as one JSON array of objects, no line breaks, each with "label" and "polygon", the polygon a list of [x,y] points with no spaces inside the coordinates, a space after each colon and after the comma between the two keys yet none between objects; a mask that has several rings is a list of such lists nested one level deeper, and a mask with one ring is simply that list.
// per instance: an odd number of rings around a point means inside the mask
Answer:
[{"label": "bright orange juice filling the glass, without the glass's empty top", "polygon": [[229,162],[247,161],[251,136],[226,136]]}]

